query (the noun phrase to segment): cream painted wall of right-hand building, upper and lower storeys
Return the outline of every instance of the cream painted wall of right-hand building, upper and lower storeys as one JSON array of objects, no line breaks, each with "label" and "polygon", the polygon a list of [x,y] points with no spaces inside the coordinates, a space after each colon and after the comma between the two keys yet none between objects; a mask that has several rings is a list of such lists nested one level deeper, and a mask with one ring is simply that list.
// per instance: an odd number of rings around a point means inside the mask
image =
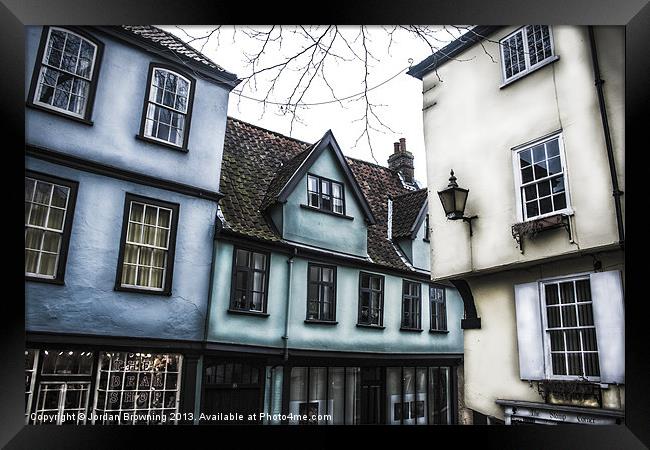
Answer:
[{"label": "cream painted wall of right-hand building, upper and lower storeys", "polygon": [[[519,377],[514,284],[592,271],[592,257],[578,251],[618,241],[587,27],[553,26],[560,59],[500,89],[497,42],[517,28],[499,30],[483,41],[484,48],[471,47],[423,79],[432,277],[462,277],[470,284],[482,328],[464,332],[465,404],[501,419],[496,399],[542,401],[535,385]],[[596,27],[595,33],[625,190],[624,30]],[[511,148],[560,129],[574,242],[563,229],[547,231],[534,241],[524,238],[521,254],[511,235],[519,208]],[[466,224],[446,220],[435,194],[447,186],[452,168],[460,187],[470,190],[465,214],[479,216],[471,240]],[[555,260],[541,263],[547,258]],[[621,251],[599,258],[603,270],[624,270]],[[624,407],[624,387],[606,389],[603,407]]]}]

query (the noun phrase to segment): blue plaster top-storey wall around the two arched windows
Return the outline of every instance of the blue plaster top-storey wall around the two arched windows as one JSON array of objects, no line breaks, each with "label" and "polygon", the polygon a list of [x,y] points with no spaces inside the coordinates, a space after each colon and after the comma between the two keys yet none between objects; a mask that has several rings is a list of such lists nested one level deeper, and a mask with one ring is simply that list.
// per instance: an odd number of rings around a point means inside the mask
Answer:
[{"label": "blue plaster top-storey wall around the two arched windows", "polygon": [[[25,95],[28,95],[42,27],[25,28]],[[135,138],[151,62],[165,62],[153,53],[126,45],[103,33],[92,126],[26,108],[28,144],[80,158],[218,191],[226,127],[228,90],[196,78],[187,153]],[[179,70],[186,69],[182,65]],[[183,70],[189,72],[189,70]],[[190,75],[193,75],[190,72]]]}]

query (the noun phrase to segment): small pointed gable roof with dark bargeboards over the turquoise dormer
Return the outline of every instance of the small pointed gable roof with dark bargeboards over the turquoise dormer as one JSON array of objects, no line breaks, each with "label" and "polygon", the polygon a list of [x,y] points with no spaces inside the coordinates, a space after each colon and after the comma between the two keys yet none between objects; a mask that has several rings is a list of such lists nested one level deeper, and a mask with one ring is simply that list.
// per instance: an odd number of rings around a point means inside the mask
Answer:
[{"label": "small pointed gable roof with dark bargeboards over the turquoise dormer", "polygon": [[[307,174],[307,171],[312,166],[312,164],[318,159],[318,157],[323,153],[327,148],[334,150],[334,155],[336,160],[339,162],[339,166],[345,175],[345,178],[348,181],[348,184],[352,188],[352,193],[356,197],[357,201],[361,205],[366,220],[369,224],[374,224],[375,218],[370,210],[370,205],[366,201],[359,184],[357,183],[356,178],[352,174],[348,163],[345,160],[345,156],[339,147],[338,142],[334,138],[332,130],[327,130],[322,138],[314,145],[312,145],[306,151],[296,155],[294,158],[289,160],[282,169],[278,172],[278,175],[271,182],[269,186],[270,192],[267,191],[265,198],[265,204],[270,206],[274,202],[283,203],[287,201],[289,195],[296,188],[300,180]],[[276,193],[277,191],[277,193]]]}]

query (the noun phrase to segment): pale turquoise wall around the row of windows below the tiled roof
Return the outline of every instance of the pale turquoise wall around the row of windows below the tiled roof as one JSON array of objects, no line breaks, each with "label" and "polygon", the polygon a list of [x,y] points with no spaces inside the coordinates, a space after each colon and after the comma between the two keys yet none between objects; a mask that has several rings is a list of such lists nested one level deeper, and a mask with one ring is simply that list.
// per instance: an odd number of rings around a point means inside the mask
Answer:
[{"label": "pale turquoise wall around the row of windows below the tiled roof", "polygon": [[[228,313],[232,271],[230,243],[217,241],[213,275],[214,288],[210,310],[209,340],[236,344],[282,347],[288,289],[287,255],[271,254],[268,317]],[[429,333],[429,291],[422,284],[421,333],[400,331],[402,278],[385,275],[383,330],[357,327],[359,269],[337,268],[336,325],[306,324],[307,263],[296,258],[293,264],[289,346],[298,349],[362,351],[460,353],[463,334],[460,320],[463,303],[455,289],[448,288],[447,314],[449,333]]]}]

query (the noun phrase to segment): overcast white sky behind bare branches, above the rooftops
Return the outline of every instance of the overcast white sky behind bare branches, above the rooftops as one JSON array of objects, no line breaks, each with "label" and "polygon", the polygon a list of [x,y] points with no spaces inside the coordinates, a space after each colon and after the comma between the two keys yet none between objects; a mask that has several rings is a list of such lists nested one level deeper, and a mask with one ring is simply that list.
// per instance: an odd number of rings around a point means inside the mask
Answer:
[{"label": "overcast white sky behind bare branches, above the rooftops", "polygon": [[[182,29],[173,26],[162,26],[161,28],[174,33],[183,40],[187,41],[189,35],[201,37],[209,34],[214,30],[214,26],[182,26]],[[254,27],[257,30],[268,30],[270,27]],[[359,37],[358,26],[339,27],[343,36],[349,41],[353,48],[361,48],[361,39]],[[246,62],[245,52],[251,53],[254,49],[259,48],[260,43],[255,42],[246,36],[246,26],[237,26],[233,32],[232,26],[224,26],[220,29],[220,34],[213,34],[209,41],[197,40],[194,45],[199,50],[219,64],[229,72],[237,74],[240,78],[251,72],[250,66]],[[322,29],[309,29],[318,33]],[[386,28],[386,29],[392,29]],[[368,48],[377,60],[370,61],[368,86],[373,87],[388,80],[400,70],[409,66],[409,59],[412,64],[417,64],[429,56],[431,49],[424,43],[405,32],[396,32],[393,34],[393,41],[390,43],[388,50],[389,34],[386,29],[380,26],[368,27]],[[280,60],[281,55],[290,54],[296,50],[300,51],[307,44],[304,38],[297,36],[295,27],[283,27],[283,43],[280,49],[277,45],[267,46],[264,54],[262,67],[272,65]],[[442,29],[436,35],[440,42],[437,46],[444,46],[451,38],[451,33],[455,29]],[[337,47],[336,45],[340,45]],[[357,47],[354,47],[354,46]],[[353,59],[352,54],[345,48],[344,43],[339,41],[333,46],[336,53],[346,59]],[[347,53],[346,53],[347,52]],[[363,64],[360,61],[344,61],[343,59],[332,58],[327,60],[324,72],[331,88],[338,98],[344,98],[349,95],[357,94],[363,91]],[[269,100],[282,101],[281,94],[287,95],[289,83],[299,76],[300,72],[285,71],[286,83],[279,83],[275,91],[269,97]],[[274,77],[272,77],[274,78]],[[251,87],[246,88],[244,95],[261,99],[264,97],[265,87],[272,78],[264,79],[260,77],[255,91]],[[241,85],[235,88],[235,91],[241,88]],[[388,157],[393,153],[393,142],[399,138],[406,138],[407,150],[415,156],[415,177],[418,181],[426,186],[426,167],[424,152],[424,137],[422,132],[422,82],[416,78],[406,75],[403,71],[386,84],[370,92],[370,99],[375,104],[384,106],[376,109],[379,118],[390,127],[394,132],[383,130],[383,133],[373,132],[371,134],[372,148],[374,156],[381,165],[387,165]],[[330,88],[322,82],[315,79],[313,87],[303,98],[304,103],[319,103],[321,101],[331,101],[332,94]],[[363,100],[351,100],[343,102],[343,105],[334,102],[327,105],[311,106],[301,108],[298,116],[300,122],[294,123],[291,136],[307,142],[317,141],[328,129],[334,133],[343,153],[366,161],[375,162],[371,155],[371,150],[365,137],[363,137],[355,146],[355,141],[363,132],[364,125],[359,121],[365,111]],[[242,98],[236,93],[230,94],[228,106],[228,115],[253,123],[263,128],[289,135],[291,127],[290,115],[283,115],[278,106],[267,105],[264,110],[262,103]],[[377,125],[375,123],[375,125]]]}]

